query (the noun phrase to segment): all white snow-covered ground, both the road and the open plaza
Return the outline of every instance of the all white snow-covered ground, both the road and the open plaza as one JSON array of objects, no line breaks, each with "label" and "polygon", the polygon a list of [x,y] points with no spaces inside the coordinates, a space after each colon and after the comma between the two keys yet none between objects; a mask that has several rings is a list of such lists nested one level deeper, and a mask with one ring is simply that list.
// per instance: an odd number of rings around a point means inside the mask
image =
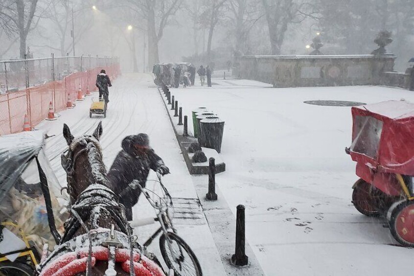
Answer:
[{"label": "all white snow-covered ground, both the road and the open plaza", "polygon": [[[222,76],[222,72],[216,74]],[[412,92],[379,86],[272,88],[255,81],[219,78],[213,79],[213,87],[197,83],[171,92],[189,119],[192,109],[207,106],[226,121],[221,153],[226,172],[216,180],[234,215],[236,205],[246,206],[246,237],[267,276],[409,272],[413,251],[391,246],[396,242],[383,222],[359,214],[351,204],[351,187],[357,177],[355,163],[344,150],[351,139],[350,107],[312,106],[303,101],[375,103],[405,98],[414,102]],[[60,166],[60,154],[66,149],[63,123],[77,136],[91,133],[102,120],[101,142],[108,168],[123,137],[148,133],[151,146],[172,172],[164,177],[172,195],[196,198],[193,183],[206,181],[205,176],[188,175],[151,77],[124,75],[110,93],[106,119],[89,118],[87,99],[61,112],[59,120],[37,127],[57,134],[46,140],[46,153],[59,180],[66,182]],[[134,215],[149,214],[152,210],[141,198]],[[205,275],[225,275],[204,217],[201,224],[178,228],[199,257]],[[136,232],[143,241],[155,229],[156,225]],[[150,250],[158,252],[157,240]]]}]

